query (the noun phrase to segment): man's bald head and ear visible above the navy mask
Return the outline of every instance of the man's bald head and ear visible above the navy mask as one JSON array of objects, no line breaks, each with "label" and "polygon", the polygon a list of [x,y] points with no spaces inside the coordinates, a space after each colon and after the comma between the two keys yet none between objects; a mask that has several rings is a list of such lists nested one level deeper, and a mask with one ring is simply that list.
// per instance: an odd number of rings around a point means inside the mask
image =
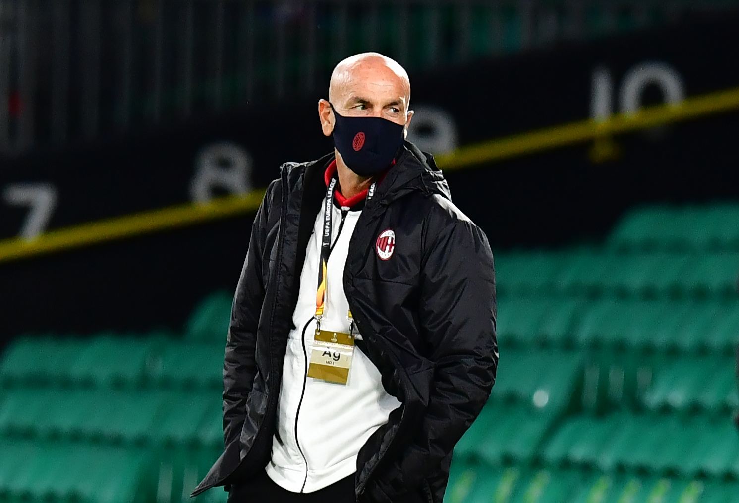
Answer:
[{"label": "man's bald head and ear visible above the navy mask", "polygon": [[[378,52],[356,54],[337,64],[328,97],[336,112],[344,116],[383,117],[407,126],[413,114],[408,109],[408,73],[397,61]],[[327,136],[334,125],[329,101],[319,101],[321,128]]]}]

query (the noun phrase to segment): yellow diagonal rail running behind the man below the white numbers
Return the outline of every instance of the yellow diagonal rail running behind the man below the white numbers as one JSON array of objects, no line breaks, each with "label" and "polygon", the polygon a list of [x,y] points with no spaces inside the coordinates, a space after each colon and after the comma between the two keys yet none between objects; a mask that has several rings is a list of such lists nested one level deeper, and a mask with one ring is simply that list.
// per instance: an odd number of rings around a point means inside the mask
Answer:
[{"label": "yellow diagonal rail running behind the man below the white numbers", "polygon": [[[601,121],[581,120],[463,146],[449,154],[437,156],[436,160],[439,167],[447,171],[469,168],[484,162],[533,154],[549,148],[584,143],[734,109],[739,109],[739,88],[689,97],[679,105],[650,106],[636,114],[614,114]],[[30,241],[21,238],[0,240],[0,262],[252,213],[259,208],[263,196],[264,190],[258,190],[243,197],[220,197],[207,205],[189,203],[63,227]]]}]

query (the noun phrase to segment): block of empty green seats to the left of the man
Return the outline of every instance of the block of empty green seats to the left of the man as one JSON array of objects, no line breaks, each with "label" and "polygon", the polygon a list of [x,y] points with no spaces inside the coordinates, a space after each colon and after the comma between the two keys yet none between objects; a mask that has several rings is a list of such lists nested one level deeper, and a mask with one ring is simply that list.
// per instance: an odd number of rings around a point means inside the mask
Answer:
[{"label": "block of empty green seats to the left of the man", "polygon": [[191,501],[222,451],[221,329],[13,341],[0,355],[0,501]]}]

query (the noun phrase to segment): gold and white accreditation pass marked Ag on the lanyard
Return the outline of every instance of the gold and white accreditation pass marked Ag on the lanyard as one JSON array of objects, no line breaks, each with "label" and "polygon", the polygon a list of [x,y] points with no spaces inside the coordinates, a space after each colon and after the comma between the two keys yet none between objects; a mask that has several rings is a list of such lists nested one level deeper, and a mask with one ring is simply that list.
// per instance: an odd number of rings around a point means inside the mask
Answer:
[{"label": "gold and white accreditation pass marked Ag on the lanyard", "polygon": [[316,330],[308,377],[346,384],[354,355],[354,338],[344,332]]}]

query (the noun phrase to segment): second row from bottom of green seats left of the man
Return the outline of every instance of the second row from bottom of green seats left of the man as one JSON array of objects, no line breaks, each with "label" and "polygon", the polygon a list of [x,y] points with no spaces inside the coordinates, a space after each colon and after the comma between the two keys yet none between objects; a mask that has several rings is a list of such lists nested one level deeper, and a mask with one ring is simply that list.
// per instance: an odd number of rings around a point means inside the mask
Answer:
[{"label": "second row from bottom of green seats left of the man", "polygon": [[13,389],[0,400],[0,434],[218,448],[222,447],[220,395]]}]

